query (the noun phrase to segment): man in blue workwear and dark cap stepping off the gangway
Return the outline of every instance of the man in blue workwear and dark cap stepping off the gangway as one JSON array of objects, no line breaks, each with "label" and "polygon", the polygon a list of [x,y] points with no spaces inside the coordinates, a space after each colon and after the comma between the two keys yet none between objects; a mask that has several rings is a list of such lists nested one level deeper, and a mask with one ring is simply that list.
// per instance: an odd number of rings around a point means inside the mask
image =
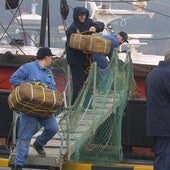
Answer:
[{"label": "man in blue workwear and dark cap stepping off the gangway", "polygon": [[[10,83],[13,87],[19,86],[22,83],[40,83],[43,86],[56,90],[56,84],[51,69],[48,66],[52,61],[52,52],[47,47],[39,48],[37,52],[37,60],[29,62],[21,66],[14,72],[10,78]],[[33,146],[38,154],[45,156],[46,153],[43,146],[57,133],[58,123],[54,115],[47,119],[27,116],[20,113],[19,135],[16,145],[15,166],[12,170],[22,170],[25,159],[28,155],[31,138],[36,130],[37,124],[40,123],[44,130],[37,137]]]}]

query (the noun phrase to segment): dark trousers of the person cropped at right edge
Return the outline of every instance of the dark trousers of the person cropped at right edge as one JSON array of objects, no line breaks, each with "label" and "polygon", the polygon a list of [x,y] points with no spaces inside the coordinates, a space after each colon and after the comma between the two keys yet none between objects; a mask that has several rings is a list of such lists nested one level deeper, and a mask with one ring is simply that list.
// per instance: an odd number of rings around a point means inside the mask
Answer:
[{"label": "dark trousers of the person cropped at right edge", "polygon": [[170,170],[170,137],[156,137],[154,170]]}]

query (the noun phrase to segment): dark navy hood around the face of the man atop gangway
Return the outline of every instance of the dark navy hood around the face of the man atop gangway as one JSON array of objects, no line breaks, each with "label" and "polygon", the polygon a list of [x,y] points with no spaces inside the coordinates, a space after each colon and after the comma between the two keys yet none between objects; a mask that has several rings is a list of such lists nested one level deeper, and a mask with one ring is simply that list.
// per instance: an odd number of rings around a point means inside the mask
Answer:
[{"label": "dark navy hood around the face of the man atop gangway", "polygon": [[89,10],[85,7],[75,7],[73,11],[73,20],[75,23],[79,23],[78,15],[85,13],[86,19],[89,18]]}]

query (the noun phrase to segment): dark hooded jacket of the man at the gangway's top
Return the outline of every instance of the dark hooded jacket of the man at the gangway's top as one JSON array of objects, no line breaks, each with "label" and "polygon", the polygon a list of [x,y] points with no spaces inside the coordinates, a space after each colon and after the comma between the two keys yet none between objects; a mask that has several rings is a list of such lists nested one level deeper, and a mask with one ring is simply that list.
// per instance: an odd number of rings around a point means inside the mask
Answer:
[{"label": "dark hooded jacket of the man at the gangway's top", "polygon": [[[86,13],[86,20],[84,23],[80,23],[78,20],[78,15],[80,13]],[[89,34],[88,30],[91,26],[96,28],[96,32],[101,32],[104,30],[104,24],[102,22],[93,22],[92,19],[89,18],[89,10],[85,7],[76,7],[73,11],[73,23],[66,31],[67,42],[66,42],[66,52],[67,52],[67,61],[68,64],[71,65],[88,65],[89,60],[87,59],[87,54],[83,53],[81,50],[73,49],[69,46],[70,36],[72,33],[80,33]]]}]

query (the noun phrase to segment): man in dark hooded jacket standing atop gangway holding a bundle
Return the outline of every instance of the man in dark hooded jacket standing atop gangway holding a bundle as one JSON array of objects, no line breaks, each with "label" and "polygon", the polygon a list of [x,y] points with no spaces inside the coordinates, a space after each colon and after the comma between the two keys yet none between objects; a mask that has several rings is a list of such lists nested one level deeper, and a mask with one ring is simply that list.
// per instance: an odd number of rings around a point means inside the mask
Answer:
[{"label": "man in dark hooded jacket standing atop gangway holding a bundle", "polygon": [[72,104],[77,98],[87,76],[90,65],[90,55],[69,46],[70,36],[73,33],[91,34],[94,32],[101,32],[104,30],[102,22],[93,22],[89,18],[89,10],[85,7],[75,7],[73,11],[73,23],[67,29],[66,36],[66,52],[67,62],[70,65],[72,82],[73,82],[73,96]]}]

